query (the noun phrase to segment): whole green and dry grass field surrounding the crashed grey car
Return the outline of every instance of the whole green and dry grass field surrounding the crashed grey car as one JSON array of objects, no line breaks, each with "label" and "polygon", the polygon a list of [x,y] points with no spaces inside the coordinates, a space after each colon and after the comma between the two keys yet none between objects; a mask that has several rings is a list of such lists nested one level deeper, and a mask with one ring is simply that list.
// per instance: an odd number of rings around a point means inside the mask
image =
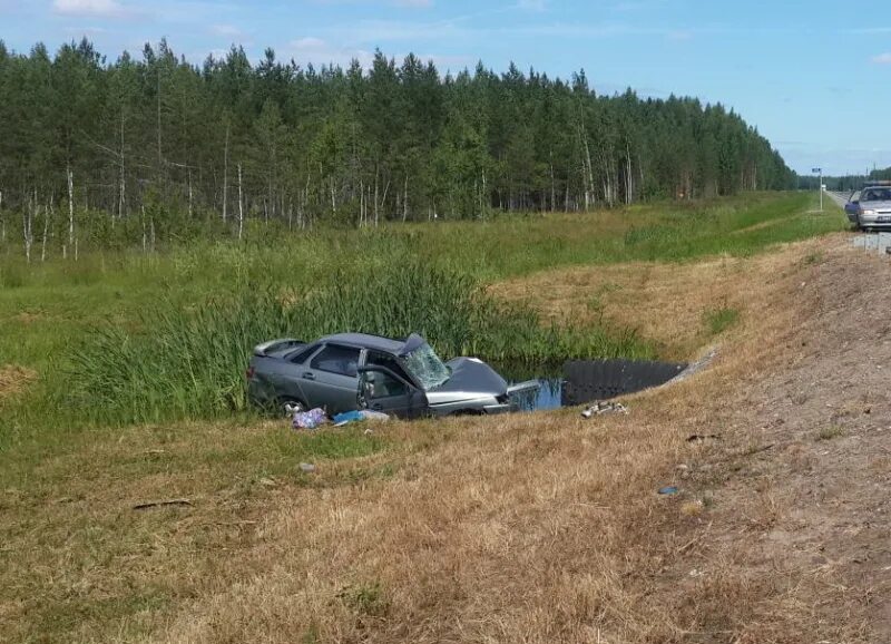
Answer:
[{"label": "whole green and dry grass field surrounding the crashed grey car", "polygon": [[[683,428],[616,419],[616,432],[593,435],[564,410],[297,436],[243,411],[177,410],[164,382],[149,381],[183,381],[164,342],[196,352],[192,364],[234,369],[263,334],[283,324],[301,324],[296,335],[324,331],[317,319],[332,311],[335,323],[370,331],[427,324],[443,350],[483,357],[517,338],[538,343],[527,355],[536,360],[578,347],[591,357],[691,358],[722,334],[756,348],[758,333],[785,320],[768,320],[760,299],[814,253],[774,263],[765,252],[844,227],[835,211],[807,214],[811,198],[316,232],[280,247],[215,244],[33,267],[8,251],[2,638],[432,642],[527,633],[544,642],[596,641],[604,628],[621,635],[609,641],[644,642],[711,628],[687,604],[646,601],[663,555],[639,526],[674,528],[640,491],[670,476]],[[441,291],[393,312],[419,284]],[[388,302],[384,291],[401,296]],[[238,304],[248,296],[266,299]],[[667,309],[677,300],[688,305]],[[260,321],[255,308],[266,311]],[[198,354],[208,328],[209,358]],[[117,351],[123,345],[128,351]],[[212,360],[219,354],[226,359]],[[144,381],[115,371],[125,359],[150,367]],[[104,400],[87,387],[108,372],[130,391]],[[188,380],[209,383],[210,399],[218,393],[218,374]],[[128,422],[149,394],[150,410]],[[677,421],[698,396],[684,389],[660,411],[664,401],[639,409]],[[170,498],[190,505],[133,509]],[[580,623],[599,626],[579,631]]]}]

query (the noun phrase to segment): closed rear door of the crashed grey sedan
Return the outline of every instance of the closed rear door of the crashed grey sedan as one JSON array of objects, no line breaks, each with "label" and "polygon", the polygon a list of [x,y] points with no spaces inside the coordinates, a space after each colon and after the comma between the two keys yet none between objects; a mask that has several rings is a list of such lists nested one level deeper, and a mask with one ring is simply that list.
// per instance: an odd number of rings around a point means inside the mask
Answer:
[{"label": "closed rear door of the crashed grey sedan", "polygon": [[329,413],[355,409],[359,353],[358,348],[343,344],[325,344],[315,353],[301,374],[304,387],[312,391],[312,401],[307,402]]}]

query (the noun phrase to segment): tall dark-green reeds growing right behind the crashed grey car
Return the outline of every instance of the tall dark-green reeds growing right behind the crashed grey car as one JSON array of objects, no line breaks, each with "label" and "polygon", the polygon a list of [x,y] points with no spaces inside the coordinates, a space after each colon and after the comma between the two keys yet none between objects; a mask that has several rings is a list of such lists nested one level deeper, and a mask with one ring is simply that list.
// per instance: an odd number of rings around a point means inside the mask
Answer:
[{"label": "tall dark-green reeds growing right behind the crashed grey car", "polygon": [[312,291],[247,284],[194,308],[160,300],[135,329],[96,328],[62,367],[59,402],[99,423],[215,418],[248,409],[253,345],[342,331],[427,336],[446,357],[512,362],[650,357],[633,332],[546,328],[521,305],[496,301],[472,277],[399,257],[373,272],[342,270]]}]

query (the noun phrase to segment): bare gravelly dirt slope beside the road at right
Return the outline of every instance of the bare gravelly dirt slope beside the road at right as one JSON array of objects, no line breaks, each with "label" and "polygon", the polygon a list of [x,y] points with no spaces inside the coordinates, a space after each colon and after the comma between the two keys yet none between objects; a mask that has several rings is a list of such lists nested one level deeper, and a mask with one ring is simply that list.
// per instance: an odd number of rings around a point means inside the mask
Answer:
[{"label": "bare gravelly dirt slope beside the road at right", "polygon": [[691,569],[722,562],[776,599],[753,642],[891,640],[891,262],[849,243],[822,242],[787,284],[792,326],[687,470],[713,508]]}]

